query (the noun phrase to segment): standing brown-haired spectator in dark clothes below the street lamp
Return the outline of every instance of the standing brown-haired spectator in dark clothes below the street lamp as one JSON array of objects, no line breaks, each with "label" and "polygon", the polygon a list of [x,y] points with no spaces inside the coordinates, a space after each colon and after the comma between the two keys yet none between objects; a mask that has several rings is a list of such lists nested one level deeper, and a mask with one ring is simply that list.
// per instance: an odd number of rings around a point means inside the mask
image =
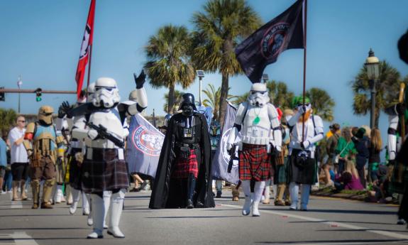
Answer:
[{"label": "standing brown-haired spectator in dark clothes below the street lamp", "polygon": [[368,143],[368,183],[373,182],[375,178],[375,173],[380,164],[380,152],[382,150],[382,138],[380,129],[373,129],[371,131],[370,143]]}]

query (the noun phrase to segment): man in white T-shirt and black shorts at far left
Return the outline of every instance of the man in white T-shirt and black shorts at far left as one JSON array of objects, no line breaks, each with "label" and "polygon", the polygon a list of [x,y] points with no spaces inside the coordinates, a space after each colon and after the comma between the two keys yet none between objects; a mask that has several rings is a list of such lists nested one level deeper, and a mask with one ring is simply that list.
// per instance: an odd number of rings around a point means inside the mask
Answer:
[{"label": "man in white T-shirt and black shorts at far left", "polygon": [[[13,175],[13,201],[27,200],[25,183],[28,178],[28,155],[23,145],[26,133],[26,119],[18,116],[17,126],[11,129],[9,141],[11,146],[11,173]],[[21,187],[21,198],[18,198],[18,187]]]}]

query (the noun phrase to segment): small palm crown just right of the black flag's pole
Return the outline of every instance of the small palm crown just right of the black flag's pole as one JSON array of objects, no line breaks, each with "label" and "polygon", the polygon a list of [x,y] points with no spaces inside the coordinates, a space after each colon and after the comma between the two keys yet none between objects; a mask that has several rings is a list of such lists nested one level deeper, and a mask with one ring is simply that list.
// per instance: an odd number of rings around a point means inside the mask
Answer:
[{"label": "small palm crown just right of the black flag's pole", "polygon": [[307,90],[306,96],[310,99],[314,114],[320,116],[324,121],[333,121],[333,107],[336,103],[326,90],[312,87]]}]

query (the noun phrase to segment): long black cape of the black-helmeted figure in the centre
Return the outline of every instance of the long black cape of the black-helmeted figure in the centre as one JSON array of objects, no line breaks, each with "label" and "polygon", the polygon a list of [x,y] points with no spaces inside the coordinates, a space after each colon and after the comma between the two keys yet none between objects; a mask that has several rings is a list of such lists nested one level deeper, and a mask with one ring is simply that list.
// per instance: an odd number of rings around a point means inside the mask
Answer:
[{"label": "long black cape of the black-helmeted figure in the centre", "polygon": [[[152,209],[179,208],[185,207],[186,190],[182,180],[171,178],[173,161],[170,156],[172,149],[172,138],[176,133],[176,122],[180,121],[183,115],[175,114],[168,122],[165,140],[162,145],[158,170],[153,184],[153,191],[150,197],[149,207]],[[196,126],[196,135],[201,135],[200,147],[196,149],[199,163],[199,174],[195,187],[194,205],[201,202],[204,207],[215,207],[212,194],[211,178],[211,144],[209,139],[208,125],[204,115],[194,113],[197,122],[201,122],[201,127]],[[196,206],[197,207],[197,206]]]}]

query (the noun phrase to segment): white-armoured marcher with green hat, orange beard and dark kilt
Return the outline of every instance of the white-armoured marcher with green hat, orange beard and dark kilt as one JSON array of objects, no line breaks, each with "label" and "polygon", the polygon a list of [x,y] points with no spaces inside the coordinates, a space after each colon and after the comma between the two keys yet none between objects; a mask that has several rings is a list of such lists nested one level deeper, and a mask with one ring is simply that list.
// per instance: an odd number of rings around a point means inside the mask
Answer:
[{"label": "white-armoured marcher with green hat, orange beard and dark kilt", "polygon": [[297,209],[299,185],[302,184],[300,209],[307,211],[310,187],[316,183],[316,146],[323,139],[323,121],[312,114],[310,99],[295,97],[292,102],[294,116],[287,121],[291,138],[289,143],[289,192],[292,204],[290,209]]}]

